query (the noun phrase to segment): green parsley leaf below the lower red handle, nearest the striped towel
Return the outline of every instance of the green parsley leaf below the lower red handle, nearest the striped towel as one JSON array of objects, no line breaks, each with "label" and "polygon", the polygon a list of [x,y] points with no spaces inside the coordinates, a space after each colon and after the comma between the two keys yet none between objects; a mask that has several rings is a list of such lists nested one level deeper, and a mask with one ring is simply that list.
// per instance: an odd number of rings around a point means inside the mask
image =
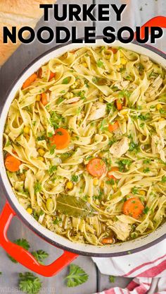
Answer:
[{"label": "green parsley leaf below the lower red handle, nearest the striped towel", "polygon": [[82,283],[87,282],[89,276],[85,273],[83,269],[81,269],[76,264],[70,264],[70,272],[68,276],[65,277],[67,279],[68,287],[75,287],[81,285]]}]

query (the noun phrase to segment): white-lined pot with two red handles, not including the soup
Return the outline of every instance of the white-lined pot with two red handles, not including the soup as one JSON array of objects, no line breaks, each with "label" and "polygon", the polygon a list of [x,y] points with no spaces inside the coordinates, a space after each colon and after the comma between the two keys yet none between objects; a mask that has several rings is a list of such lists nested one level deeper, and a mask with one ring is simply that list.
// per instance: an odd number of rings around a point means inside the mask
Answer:
[{"label": "white-lined pot with two red handles, not including the soup", "polygon": [[[143,36],[143,28],[145,26],[160,26],[166,28],[166,18],[165,17],[156,17],[152,20],[149,20],[148,23],[143,25],[142,27],[142,36]],[[6,205],[0,216],[0,245],[6,250],[8,254],[10,254],[14,259],[16,259],[20,264],[27,267],[31,271],[36,272],[37,274],[41,274],[43,276],[53,276],[58,273],[61,269],[65,266],[70,264],[79,254],[86,255],[86,256],[93,256],[93,257],[119,257],[121,255],[125,255],[127,253],[134,253],[139,252],[147,247],[151,247],[152,245],[160,242],[166,237],[165,230],[166,230],[166,223],[162,224],[160,228],[153,231],[153,233],[139,237],[135,240],[129,240],[124,243],[117,243],[111,246],[103,246],[103,247],[95,247],[94,245],[86,245],[86,244],[75,244],[68,239],[60,235],[56,235],[55,233],[47,230],[42,225],[40,225],[37,220],[35,220],[32,216],[30,216],[27,211],[21,206],[15,198],[15,194],[11,188],[11,184],[8,180],[6,175],[6,169],[4,166],[4,158],[2,152],[3,146],[3,131],[4,131],[4,124],[6,122],[6,117],[8,114],[8,109],[11,105],[11,102],[15,96],[15,93],[21,86],[23,82],[32,74],[34,71],[37,71],[41,64],[45,64],[49,59],[59,56],[64,52],[75,49],[76,47],[88,46],[89,44],[71,44],[68,45],[60,45],[56,48],[49,50],[48,52],[42,54],[40,57],[35,59],[30,66],[20,74],[17,78],[15,83],[11,86],[11,89],[8,91],[6,95],[6,102],[4,108],[1,112],[0,117],[0,172],[2,182],[4,184],[4,189],[6,191]],[[102,37],[96,38],[96,44],[91,46],[103,46],[106,43],[103,42]],[[126,49],[131,49],[134,52],[138,52],[139,54],[145,54],[153,61],[156,61],[158,64],[162,66],[166,66],[166,54],[160,52],[158,49],[155,49],[148,45],[140,45],[136,41],[129,43],[129,44],[122,44],[119,41],[115,41],[113,46],[121,46],[125,47]],[[41,265],[37,262],[36,259],[27,252],[27,250],[23,249],[22,247],[15,245],[13,242],[8,240],[7,231],[8,227],[11,223],[11,219],[14,216],[18,216],[20,220],[23,220],[23,223],[27,225],[34,233],[39,235],[39,237],[43,238],[51,245],[54,245],[58,248],[63,249],[63,254],[56,259],[52,264],[47,266]]]}]

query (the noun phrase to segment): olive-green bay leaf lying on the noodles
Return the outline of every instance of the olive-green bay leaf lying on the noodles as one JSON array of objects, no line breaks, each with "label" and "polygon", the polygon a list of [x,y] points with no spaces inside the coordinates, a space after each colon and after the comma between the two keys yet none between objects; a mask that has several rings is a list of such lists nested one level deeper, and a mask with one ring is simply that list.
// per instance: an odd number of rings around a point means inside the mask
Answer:
[{"label": "olive-green bay leaf lying on the noodles", "polygon": [[56,199],[56,210],[66,216],[74,216],[75,218],[86,218],[94,213],[91,204],[79,197],[60,195]]}]

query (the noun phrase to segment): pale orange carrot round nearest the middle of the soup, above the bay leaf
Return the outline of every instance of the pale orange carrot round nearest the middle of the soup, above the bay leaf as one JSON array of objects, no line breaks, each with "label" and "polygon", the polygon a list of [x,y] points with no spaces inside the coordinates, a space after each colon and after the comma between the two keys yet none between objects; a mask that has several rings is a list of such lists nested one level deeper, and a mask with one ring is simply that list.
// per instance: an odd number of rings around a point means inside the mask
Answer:
[{"label": "pale orange carrot round nearest the middle of the soup, above the bay leaf", "polygon": [[101,158],[93,158],[87,164],[87,171],[93,177],[101,177],[106,172],[106,163]]}]

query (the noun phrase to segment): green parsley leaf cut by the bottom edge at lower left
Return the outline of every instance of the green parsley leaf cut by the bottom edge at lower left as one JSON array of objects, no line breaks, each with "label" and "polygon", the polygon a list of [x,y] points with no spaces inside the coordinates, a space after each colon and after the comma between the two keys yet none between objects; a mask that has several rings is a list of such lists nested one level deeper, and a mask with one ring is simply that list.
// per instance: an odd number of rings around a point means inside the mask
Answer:
[{"label": "green parsley leaf cut by the bottom edge at lower left", "polygon": [[41,281],[34,274],[26,272],[25,274],[19,274],[18,286],[21,291],[27,294],[37,294],[41,289]]}]

